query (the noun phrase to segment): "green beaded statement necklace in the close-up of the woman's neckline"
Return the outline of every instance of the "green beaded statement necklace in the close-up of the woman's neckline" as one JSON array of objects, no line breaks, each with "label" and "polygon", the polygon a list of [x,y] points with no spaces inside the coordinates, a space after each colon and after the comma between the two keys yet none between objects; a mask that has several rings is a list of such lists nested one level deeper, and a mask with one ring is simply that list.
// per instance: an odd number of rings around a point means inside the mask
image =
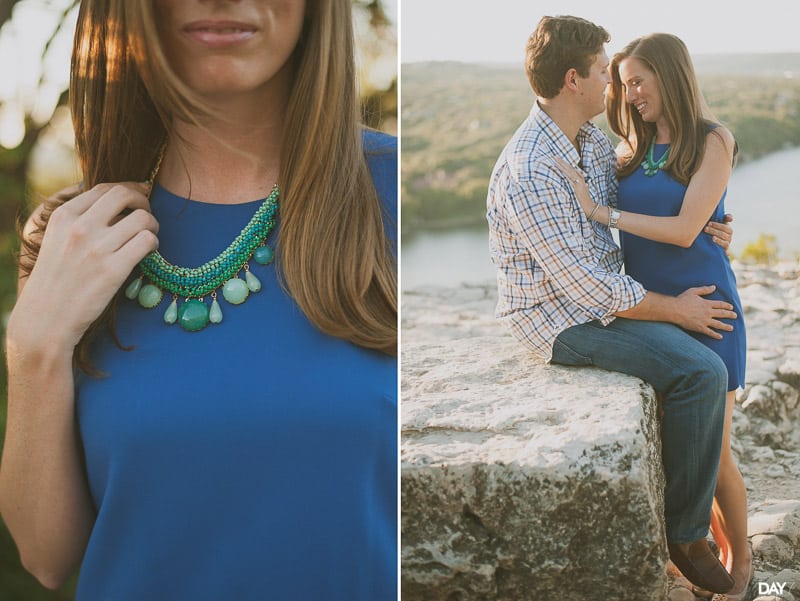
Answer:
[{"label": "green beaded statement necklace in the close-up of the woman's neckline", "polygon": [[[160,163],[160,157],[158,163]],[[150,185],[155,181],[156,165]],[[265,244],[275,226],[278,209],[278,185],[264,199],[252,219],[236,239],[219,255],[199,267],[179,267],[167,261],[157,250],[139,263],[140,275],[126,288],[125,296],[137,300],[145,309],[161,303],[164,292],[172,294],[172,303],[164,313],[168,325],[177,322],[187,332],[202,330],[209,323],[222,321],[222,308],[217,301],[217,291],[232,305],[240,305],[251,292],[261,290],[261,281],[250,271],[252,258],[259,265],[268,265],[274,251]],[[244,271],[244,279],[239,277]],[[211,297],[207,305],[205,297]],[[184,302],[178,306],[178,300]]]}]

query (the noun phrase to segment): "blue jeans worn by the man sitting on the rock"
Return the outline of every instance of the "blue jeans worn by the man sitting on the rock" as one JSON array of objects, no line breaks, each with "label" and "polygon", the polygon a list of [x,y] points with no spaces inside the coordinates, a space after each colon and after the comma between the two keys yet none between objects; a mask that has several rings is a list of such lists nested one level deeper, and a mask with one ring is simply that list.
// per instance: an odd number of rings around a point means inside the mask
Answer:
[{"label": "blue jeans worn by the man sitting on the rock", "polygon": [[616,318],[561,332],[553,363],[594,365],[639,377],[662,395],[667,540],[708,534],[717,484],[728,372],[716,353],[667,323]]}]

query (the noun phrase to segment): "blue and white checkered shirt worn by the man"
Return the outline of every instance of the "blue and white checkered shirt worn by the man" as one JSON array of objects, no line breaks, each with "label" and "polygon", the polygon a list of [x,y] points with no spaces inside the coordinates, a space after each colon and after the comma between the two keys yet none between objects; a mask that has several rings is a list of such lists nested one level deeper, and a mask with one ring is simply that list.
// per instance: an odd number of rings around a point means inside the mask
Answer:
[{"label": "blue and white checkered shirt worn by the man", "polygon": [[591,122],[578,142],[580,156],[535,103],[500,154],[486,201],[496,315],[545,361],[563,330],[592,320],[607,325],[645,295],[641,284],[619,273],[622,252],[610,230],[586,218],[554,160],[580,165],[592,198],[616,206],[611,142]]}]

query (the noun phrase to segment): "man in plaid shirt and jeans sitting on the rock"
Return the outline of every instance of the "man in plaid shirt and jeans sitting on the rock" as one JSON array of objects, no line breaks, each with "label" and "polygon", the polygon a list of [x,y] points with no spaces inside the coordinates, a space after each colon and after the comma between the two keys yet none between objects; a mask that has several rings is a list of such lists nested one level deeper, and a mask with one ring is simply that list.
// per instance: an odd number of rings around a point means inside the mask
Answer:
[{"label": "man in plaid shirt and jeans sitting on the rock", "polygon": [[[662,395],[665,521],[670,557],[694,584],[725,592],[733,579],[706,542],[727,388],[721,359],[683,329],[721,336],[732,306],[650,292],[620,274],[610,229],[590,221],[556,158],[585,174],[600,210],[616,205],[616,157],[590,122],[609,83],[602,27],[544,17],[528,41],[537,101],[501,153],[487,198],[498,318],[545,361],[631,374]],[[609,213],[611,214],[611,213]],[[730,232],[710,224],[709,233]],[[674,325],[673,325],[674,324]],[[680,326],[680,327],[677,327]],[[683,328],[683,329],[681,329]]]}]

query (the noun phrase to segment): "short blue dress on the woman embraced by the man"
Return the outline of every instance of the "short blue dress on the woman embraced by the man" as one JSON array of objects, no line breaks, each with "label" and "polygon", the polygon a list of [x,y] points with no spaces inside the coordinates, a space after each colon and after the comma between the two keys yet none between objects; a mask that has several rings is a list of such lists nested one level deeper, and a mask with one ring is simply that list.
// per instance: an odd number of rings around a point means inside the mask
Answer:
[{"label": "short blue dress on the woman embraced by the man", "polygon": [[[653,156],[663,156],[667,144],[656,144]],[[659,170],[653,177],[639,168],[619,184],[619,208],[632,213],[675,216],[680,213],[686,186],[671,175]],[[725,194],[714,209],[711,220],[721,222],[725,216]],[[711,236],[701,232],[689,248],[654,242],[620,231],[620,243],[625,257],[625,273],[641,282],[647,290],[677,296],[687,288],[717,287],[705,298],[731,303],[735,320],[722,321],[733,324],[733,332],[721,332],[722,340],[704,334],[689,332],[697,340],[714,350],[728,368],[728,390],[744,386],[745,353],[747,340],[742,304],[736,291],[736,276],[725,251],[714,243]]]}]

